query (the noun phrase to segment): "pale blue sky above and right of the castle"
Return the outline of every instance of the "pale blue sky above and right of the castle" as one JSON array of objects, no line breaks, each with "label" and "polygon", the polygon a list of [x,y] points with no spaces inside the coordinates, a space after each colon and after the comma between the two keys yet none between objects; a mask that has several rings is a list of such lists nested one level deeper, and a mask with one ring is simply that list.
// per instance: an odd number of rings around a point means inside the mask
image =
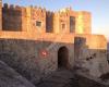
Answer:
[{"label": "pale blue sky above and right of the castle", "polygon": [[109,0],[3,0],[3,3],[20,5],[38,5],[57,11],[72,7],[75,11],[92,12],[93,34],[102,34],[109,38]]}]

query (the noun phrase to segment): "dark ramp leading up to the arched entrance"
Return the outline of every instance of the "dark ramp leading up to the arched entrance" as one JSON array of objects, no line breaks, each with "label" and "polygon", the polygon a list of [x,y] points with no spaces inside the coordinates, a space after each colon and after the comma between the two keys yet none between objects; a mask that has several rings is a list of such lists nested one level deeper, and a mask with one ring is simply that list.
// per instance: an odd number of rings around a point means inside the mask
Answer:
[{"label": "dark ramp leading up to the arched entrance", "polygon": [[73,72],[69,70],[58,70],[47,78],[44,78],[37,87],[72,87]]}]

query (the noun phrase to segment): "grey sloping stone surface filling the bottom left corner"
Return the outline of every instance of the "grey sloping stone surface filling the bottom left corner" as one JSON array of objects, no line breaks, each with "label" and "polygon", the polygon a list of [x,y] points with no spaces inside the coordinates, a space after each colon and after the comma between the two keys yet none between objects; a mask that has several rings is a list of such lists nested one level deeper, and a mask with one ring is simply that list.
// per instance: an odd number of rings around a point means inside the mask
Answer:
[{"label": "grey sloping stone surface filling the bottom left corner", "polygon": [[0,87],[35,87],[13,69],[0,61]]}]

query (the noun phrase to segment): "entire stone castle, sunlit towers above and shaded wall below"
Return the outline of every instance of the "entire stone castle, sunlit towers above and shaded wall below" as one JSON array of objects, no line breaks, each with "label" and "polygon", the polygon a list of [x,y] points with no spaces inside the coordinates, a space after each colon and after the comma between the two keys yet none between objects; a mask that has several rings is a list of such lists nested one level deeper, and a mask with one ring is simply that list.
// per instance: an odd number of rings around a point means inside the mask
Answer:
[{"label": "entire stone castle, sunlit towers above and shaded wall below", "polygon": [[[92,14],[9,5],[0,0],[0,60],[32,83],[60,67],[109,72],[107,40],[92,34]],[[90,64],[92,63],[92,64]]]}]

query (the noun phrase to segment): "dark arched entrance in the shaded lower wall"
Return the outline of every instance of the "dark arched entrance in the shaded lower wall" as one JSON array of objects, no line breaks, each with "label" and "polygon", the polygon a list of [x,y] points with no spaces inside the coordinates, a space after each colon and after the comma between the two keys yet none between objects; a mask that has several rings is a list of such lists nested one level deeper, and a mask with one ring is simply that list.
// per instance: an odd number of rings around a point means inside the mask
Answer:
[{"label": "dark arched entrance in the shaded lower wall", "polygon": [[58,50],[58,67],[68,67],[69,64],[69,50],[66,47],[61,47]]}]

